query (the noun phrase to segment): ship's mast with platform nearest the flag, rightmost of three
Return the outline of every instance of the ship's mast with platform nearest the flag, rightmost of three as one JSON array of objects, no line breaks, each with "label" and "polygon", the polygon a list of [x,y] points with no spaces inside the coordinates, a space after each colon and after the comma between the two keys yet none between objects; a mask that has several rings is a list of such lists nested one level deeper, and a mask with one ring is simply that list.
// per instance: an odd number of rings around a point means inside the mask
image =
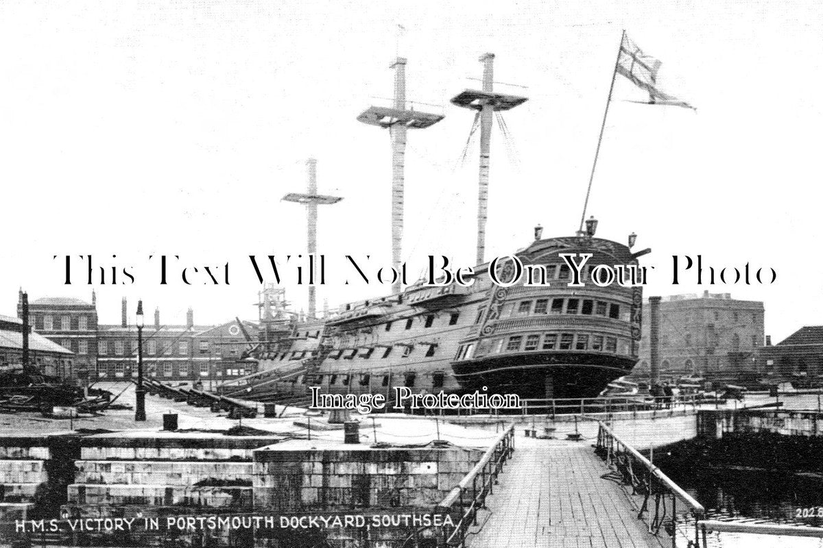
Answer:
[{"label": "ship's mast with platform nearest the flag, rightmost of three", "polygon": [[483,89],[463,90],[452,99],[458,107],[479,111],[480,117],[480,173],[477,189],[477,265],[486,255],[486,219],[489,203],[489,164],[491,159],[491,122],[496,111],[510,110],[525,103],[528,98],[519,95],[495,93],[494,53],[483,53],[478,59],[483,63]]}]

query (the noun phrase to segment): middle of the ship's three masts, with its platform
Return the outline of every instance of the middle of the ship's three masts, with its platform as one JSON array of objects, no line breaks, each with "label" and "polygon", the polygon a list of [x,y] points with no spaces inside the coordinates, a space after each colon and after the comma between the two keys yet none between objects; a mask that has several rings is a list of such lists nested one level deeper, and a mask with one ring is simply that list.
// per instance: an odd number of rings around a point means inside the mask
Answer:
[{"label": "middle of the ship's three masts, with its platform", "polygon": [[[406,63],[398,57],[391,64],[394,69],[394,98],[392,107],[371,106],[357,119],[372,126],[388,127],[392,140],[392,266],[399,269],[402,262],[403,189],[405,185],[406,132],[431,127],[443,119],[442,114],[425,113],[406,108]],[[398,278],[392,292],[399,293],[402,283]]]}]

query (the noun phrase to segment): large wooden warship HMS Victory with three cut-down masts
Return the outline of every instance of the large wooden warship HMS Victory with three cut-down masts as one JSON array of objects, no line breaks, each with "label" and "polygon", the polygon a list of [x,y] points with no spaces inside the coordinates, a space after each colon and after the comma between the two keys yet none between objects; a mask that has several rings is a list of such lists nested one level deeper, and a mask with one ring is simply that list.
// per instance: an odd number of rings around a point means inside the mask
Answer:
[{"label": "large wooden warship HMS Victory with three cut-down masts", "polygon": [[[523,104],[520,95],[494,90],[492,60],[486,53],[482,90],[463,90],[452,103],[476,111],[472,133],[480,129],[477,210],[477,267],[469,283],[399,283],[384,297],[342,305],[319,317],[314,288],[309,314],[288,311],[285,290],[264,288],[258,299],[260,334],[249,336],[258,372],[218,387],[220,394],[262,402],[309,403],[311,387],[323,394],[516,394],[521,399],[596,398],[627,375],[639,357],[642,286],[620,279],[639,266],[649,250],[596,237],[597,220],[581,219],[576,233],[542,237],[534,229],[528,245],[504,261],[484,260],[486,196],[492,116]],[[371,106],[358,120],[390,131],[393,145],[393,260],[402,242],[402,158],[408,129],[425,129],[443,116],[407,108],[406,59],[398,58],[395,96],[389,107]],[[307,207],[309,254],[314,253],[318,205],[336,196],[319,195],[316,161],[310,159],[305,194],[285,200]],[[585,208],[584,208],[585,214]],[[585,226],[585,228],[584,228]],[[588,256],[580,279],[568,257]],[[496,263],[496,264],[495,264]],[[516,265],[531,265],[540,283],[494,283],[513,276]],[[611,283],[605,283],[611,279]],[[575,282],[575,283],[573,283]]]}]

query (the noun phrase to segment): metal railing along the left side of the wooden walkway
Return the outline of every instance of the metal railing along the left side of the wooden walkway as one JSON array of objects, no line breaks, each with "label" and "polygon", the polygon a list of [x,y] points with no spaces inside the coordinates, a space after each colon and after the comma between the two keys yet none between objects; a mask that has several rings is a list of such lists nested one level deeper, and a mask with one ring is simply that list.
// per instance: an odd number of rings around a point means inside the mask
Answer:
[{"label": "metal railing along the left side of the wooden walkway", "polygon": [[486,496],[494,492],[497,476],[514,453],[514,425],[509,425],[482,458],[435,509],[453,516],[453,527],[444,526],[438,546],[466,546],[466,532],[477,525],[477,510],[486,507]]}]

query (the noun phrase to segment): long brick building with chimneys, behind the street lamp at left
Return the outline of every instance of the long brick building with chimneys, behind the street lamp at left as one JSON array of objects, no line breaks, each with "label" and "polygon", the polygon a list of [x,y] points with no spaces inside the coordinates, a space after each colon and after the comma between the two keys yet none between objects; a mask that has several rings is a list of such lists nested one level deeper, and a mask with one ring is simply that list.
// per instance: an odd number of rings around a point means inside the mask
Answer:
[{"label": "long brick building with chimneys, behind the street lamp at left", "polygon": [[[45,338],[74,352],[72,377],[81,380],[120,380],[137,376],[137,327],[128,302],[121,302],[119,325],[100,325],[97,302],[65,297],[37,299],[29,305],[29,323]],[[18,315],[21,315],[18,305]],[[215,384],[257,371],[257,361],[246,356],[249,343],[243,334],[256,333],[257,326],[237,320],[222,325],[195,325],[188,309],[186,323],[160,324],[155,309],[154,322],[146,315],[143,326],[143,366],[146,375],[157,380],[195,381]],[[64,371],[62,376],[69,376]]]}]

